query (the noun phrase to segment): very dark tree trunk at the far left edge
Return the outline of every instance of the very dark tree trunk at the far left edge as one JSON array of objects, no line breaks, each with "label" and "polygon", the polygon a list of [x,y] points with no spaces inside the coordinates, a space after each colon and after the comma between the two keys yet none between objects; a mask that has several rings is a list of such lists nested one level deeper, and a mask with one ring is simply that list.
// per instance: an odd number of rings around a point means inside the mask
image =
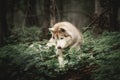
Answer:
[{"label": "very dark tree trunk at the far left edge", "polygon": [[0,0],[0,46],[5,44],[5,38],[9,35],[6,14],[7,0]]}]

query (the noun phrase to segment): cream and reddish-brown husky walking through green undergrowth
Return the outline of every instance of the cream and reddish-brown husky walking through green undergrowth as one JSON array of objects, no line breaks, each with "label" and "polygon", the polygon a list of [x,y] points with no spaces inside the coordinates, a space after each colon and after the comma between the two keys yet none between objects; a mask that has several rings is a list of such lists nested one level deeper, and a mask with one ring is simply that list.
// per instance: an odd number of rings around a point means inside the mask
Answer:
[{"label": "cream and reddish-brown husky walking through green undergrowth", "polygon": [[82,34],[79,30],[69,22],[58,22],[52,28],[49,28],[52,37],[47,43],[47,46],[55,46],[56,55],[58,55],[58,62],[61,67],[64,66],[64,59],[62,51],[65,48],[70,50],[80,50],[83,42]]}]

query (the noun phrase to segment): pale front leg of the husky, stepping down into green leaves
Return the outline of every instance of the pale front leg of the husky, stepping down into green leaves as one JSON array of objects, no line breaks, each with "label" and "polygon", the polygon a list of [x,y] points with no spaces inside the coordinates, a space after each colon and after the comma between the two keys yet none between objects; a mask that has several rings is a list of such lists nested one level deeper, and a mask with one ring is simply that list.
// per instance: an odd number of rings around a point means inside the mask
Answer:
[{"label": "pale front leg of the husky, stepping down into green leaves", "polygon": [[61,49],[57,49],[56,55],[58,57],[59,67],[60,68],[64,67],[64,58],[63,58],[62,50]]}]

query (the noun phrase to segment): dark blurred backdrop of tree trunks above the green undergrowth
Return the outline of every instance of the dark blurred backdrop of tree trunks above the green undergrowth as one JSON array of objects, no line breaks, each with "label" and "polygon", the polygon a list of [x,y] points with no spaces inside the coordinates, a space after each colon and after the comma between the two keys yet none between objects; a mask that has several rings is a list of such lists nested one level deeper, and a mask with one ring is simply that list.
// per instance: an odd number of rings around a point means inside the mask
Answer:
[{"label": "dark blurred backdrop of tree trunks above the green undergrowth", "polygon": [[48,28],[59,21],[69,21],[81,31],[91,26],[95,33],[118,31],[119,14],[119,0],[1,0],[0,45],[13,28],[36,26],[46,39]]}]

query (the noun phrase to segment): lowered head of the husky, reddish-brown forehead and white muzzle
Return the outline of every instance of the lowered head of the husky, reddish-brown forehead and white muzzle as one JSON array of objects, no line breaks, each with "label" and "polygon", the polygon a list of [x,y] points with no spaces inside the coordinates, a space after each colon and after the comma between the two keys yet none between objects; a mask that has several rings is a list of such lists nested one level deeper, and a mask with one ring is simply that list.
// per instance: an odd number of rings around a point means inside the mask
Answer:
[{"label": "lowered head of the husky, reddish-brown forehead and white muzzle", "polygon": [[64,28],[49,28],[52,34],[51,42],[55,43],[57,49],[64,49],[72,43],[72,37]]}]

